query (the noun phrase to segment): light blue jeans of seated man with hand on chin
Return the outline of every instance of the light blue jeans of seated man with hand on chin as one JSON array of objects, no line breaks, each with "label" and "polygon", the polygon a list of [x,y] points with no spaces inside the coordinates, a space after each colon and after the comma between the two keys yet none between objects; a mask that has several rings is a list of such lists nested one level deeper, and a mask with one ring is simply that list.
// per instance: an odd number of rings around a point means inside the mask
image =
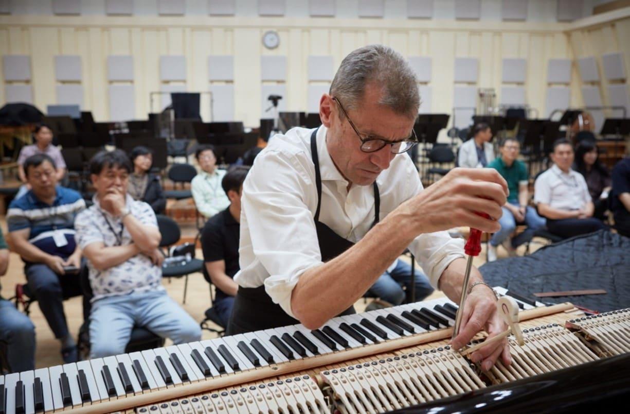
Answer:
[{"label": "light blue jeans of seated man with hand on chin", "polygon": [[90,358],[125,352],[134,326],[142,326],[175,345],[198,341],[201,328],[164,290],[98,299],[89,316]]}]

